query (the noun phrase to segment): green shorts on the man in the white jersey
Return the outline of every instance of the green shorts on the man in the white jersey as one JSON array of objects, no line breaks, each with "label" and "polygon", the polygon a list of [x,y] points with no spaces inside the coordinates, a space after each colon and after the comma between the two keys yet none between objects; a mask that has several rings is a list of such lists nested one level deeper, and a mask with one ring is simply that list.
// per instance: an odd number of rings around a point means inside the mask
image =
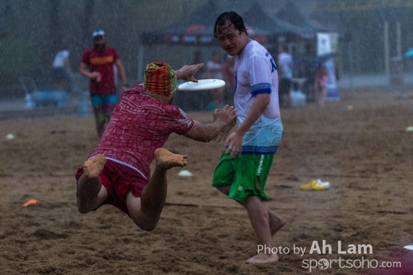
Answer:
[{"label": "green shorts on the man in the white jersey", "polygon": [[235,201],[245,201],[250,196],[268,200],[264,192],[266,179],[273,164],[274,155],[245,154],[229,159],[222,153],[220,163],[215,168],[212,186],[231,186],[228,197]]}]

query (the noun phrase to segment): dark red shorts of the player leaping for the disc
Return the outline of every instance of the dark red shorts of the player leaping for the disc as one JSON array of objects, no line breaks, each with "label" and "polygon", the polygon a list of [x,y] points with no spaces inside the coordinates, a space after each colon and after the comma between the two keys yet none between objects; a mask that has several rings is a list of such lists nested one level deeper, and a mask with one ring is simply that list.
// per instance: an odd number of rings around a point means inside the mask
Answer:
[{"label": "dark red shorts of the player leaping for the disc", "polygon": [[[78,181],[82,174],[83,168],[79,167],[76,173],[76,181]],[[129,212],[126,205],[127,193],[130,190],[134,197],[140,197],[143,188],[148,184],[147,179],[136,170],[110,159],[107,159],[105,168],[103,168],[99,177],[107,190],[107,199],[102,204],[115,206],[128,215]]]}]

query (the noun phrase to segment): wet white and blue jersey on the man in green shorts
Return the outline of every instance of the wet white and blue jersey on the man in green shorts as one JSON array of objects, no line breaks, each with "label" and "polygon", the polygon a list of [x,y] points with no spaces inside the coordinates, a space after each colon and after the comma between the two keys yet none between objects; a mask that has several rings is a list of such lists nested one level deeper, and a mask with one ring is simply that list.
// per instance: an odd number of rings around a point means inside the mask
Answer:
[{"label": "wet white and blue jersey on the man in green shorts", "polygon": [[282,139],[278,73],[274,59],[257,41],[249,42],[235,62],[235,107],[242,124],[257,94],[270,94],[264,113],[244,135],[242,153],[275,153]]}]

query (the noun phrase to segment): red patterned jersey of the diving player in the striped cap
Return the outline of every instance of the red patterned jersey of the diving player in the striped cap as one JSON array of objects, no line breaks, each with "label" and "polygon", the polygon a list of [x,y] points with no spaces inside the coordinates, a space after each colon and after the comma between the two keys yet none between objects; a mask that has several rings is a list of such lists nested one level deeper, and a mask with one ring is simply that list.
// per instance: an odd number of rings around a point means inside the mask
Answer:
[{"label": "red patterned jersey of the diving player in the striped cap", "polygon": [[89,157],[103,154],[149,179],[155,150],[165,144],[171,133],[183,135],[195,122],[176,105],[162,103],[142,91],[142,85],[138,85],[123,93],[100,143]]}]

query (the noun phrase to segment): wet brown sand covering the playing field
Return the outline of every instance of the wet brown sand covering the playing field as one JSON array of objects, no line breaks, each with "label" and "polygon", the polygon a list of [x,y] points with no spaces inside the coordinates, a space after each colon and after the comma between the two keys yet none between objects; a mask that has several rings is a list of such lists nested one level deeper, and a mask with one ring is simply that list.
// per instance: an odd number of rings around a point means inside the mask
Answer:
[{"label": "wet brown sand covering the playing field", "polygon": [[[257,254],[246,212],[211,188],[224,143],[171,135],[164,147],[188,155],[183,169],[193,176],[169,170],[168,204],[156,230],[144,232],[112,206],[77,212],[76,168],[98,142],[92,118],[1,120],[0,274],[308,274],[303,266],[322,259],[332,266],[311,274],[401,274],[413,261],[403,250],[413,244],[413,132],[405,131],[413,126],[413,92],[403,95],[343,92],[324,109],[282,109],[284,140],[266,192],[287,223],[273,238],[279,263],[270,265],[243,263]],[[299,190],[317,178],[330,190]],[[39,203],[23,208],[29,199]],[[323,240],[332,253],[310,254]],[[372,251],[339,254],[352,245]],[[403,268],[340,267],[339,259]]]}]

